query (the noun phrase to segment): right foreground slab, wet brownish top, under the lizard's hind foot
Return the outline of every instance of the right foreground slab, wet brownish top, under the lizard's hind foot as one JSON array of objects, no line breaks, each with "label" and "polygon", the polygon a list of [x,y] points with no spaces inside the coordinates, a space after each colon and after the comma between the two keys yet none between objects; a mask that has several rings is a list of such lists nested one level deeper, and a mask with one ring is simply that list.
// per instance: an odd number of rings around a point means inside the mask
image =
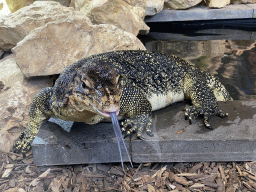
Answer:
[{"label": "right foreground slab, wet brownish top, under the lizard's hind foot", "polygon": [[154,115],[154,137],[132,141],[132,159],[145,162],[255,161],[256,101],[220,102],[229,117],[212,117],[213,130],[184,120],[181,104]]}]

